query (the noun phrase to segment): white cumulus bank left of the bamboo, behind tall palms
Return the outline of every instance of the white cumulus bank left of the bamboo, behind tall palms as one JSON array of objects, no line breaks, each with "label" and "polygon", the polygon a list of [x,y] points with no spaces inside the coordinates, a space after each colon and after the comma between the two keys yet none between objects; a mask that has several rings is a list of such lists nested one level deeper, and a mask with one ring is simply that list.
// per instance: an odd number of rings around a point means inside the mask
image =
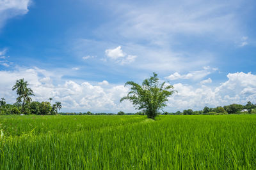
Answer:
[{"label": "white cumulus bank left of the bamboo, behind tall palms", "polygon": [[0,96],[8,103],[15,103],[17,96],[12,91],[12,86],[16,80],[24,78],[33,89],[35,94],[33,100],[47,101],[52,97],[53,101],[61,102],[63,111],[133,111],[131,103],[119,103],[120,98],[129,90],[123,85],[108,87],[109,83],[106,80],[99,82],[99,85],[88,81],[77,83],[72,80],[63,80],[54,84],[52,83],[52,80],[56,79],[54,74],[38,68],[0,71]]}]

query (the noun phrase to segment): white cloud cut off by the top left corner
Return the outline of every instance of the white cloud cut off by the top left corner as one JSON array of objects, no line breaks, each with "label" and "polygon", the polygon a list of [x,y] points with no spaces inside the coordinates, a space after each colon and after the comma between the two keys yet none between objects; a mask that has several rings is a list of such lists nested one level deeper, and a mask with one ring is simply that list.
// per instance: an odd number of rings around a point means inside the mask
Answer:
[{"label": "white cloud cut off by the top left corner", "polygon": [[6,20],[28,13],[30,0],[0,0],[0,28]]}]

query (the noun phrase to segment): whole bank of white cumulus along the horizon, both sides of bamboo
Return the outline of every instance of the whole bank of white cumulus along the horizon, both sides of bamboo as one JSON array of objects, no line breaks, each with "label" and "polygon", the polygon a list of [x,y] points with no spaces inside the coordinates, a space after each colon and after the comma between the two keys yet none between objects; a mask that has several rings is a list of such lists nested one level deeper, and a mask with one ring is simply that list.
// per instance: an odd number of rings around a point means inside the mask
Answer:
[{"label": "whole bank of white cumulus along the horizon, both sides of bamboo", "polygon": [[[17,96],[12,91],[12,86],[16,80],[24,78],[35,93],[34,100],[47,101],[52,97],[54,101],[62,103],[63,111],[134,111],[132,104],[128,101],[119,103],[120,98],[129,92],[129,87],[109,84],[106,80],[98,83],[88,81],[77,83],[72,80],[53,83],[52,80],[56,79],[55,75],[56,73],[38,68],[0,71],[0,97],[4,97],[8,103],[14,103]],[[178,92],[169,98],[168,107],[164,110],[177,111],[188,108],[202,110],[204,106],[246,104],[247,101],[256,103],[255,74],[230,73],[227,78],[227,81],[216,87],[207,83],[202,83],[200,87],[182,83],[174,84]],[[207,81],[209,80],[211,79]]]}]

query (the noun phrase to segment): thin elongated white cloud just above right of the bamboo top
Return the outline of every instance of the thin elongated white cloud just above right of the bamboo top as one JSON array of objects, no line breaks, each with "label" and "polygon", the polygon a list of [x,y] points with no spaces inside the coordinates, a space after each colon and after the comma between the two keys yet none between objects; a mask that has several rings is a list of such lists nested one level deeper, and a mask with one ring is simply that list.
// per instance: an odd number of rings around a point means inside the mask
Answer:
[{"label": "thin elongated white cloud just above right of the bamboo top", "polygon": [[175,72],[173,74],[170,74],[170,76],[166,76],[165,78],[169,80],[179,80],[179,79],[200,80],[217,70],[218,70],[217,68],[203,67],[202,70],[190,71],[188,74],[179,74]]}]

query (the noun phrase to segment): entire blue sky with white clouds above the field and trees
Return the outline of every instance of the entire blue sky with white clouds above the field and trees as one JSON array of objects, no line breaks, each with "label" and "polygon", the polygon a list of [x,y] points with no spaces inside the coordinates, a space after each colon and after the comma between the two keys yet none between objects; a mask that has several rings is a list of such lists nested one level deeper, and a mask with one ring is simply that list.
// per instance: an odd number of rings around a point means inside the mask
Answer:
[{"label": "entire blue sky with white clouds above the field and trees", "polygon": [[61,111],[134,111],[126,81],[178,91],[165,111],[256,103],[256,2],[0,0],[0,97],[24,78]]}]

